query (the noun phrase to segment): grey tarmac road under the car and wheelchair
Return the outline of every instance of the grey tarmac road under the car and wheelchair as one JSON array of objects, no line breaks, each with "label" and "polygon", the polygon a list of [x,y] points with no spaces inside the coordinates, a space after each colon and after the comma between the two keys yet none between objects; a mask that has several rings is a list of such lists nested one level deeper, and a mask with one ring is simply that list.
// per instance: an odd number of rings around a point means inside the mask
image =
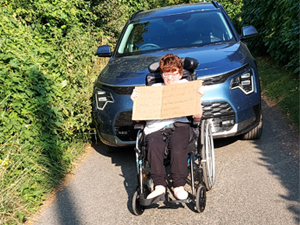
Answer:
[{"label": "grey tarmac road under the car and wheelchair", "polygon": [[159,204],[135,216],[133,149],[107,153],[98,144],[30,224],[299,224],[299,137],[265,102],[263,116],[261,139],[215,140],[216,183],[203,213]]}]

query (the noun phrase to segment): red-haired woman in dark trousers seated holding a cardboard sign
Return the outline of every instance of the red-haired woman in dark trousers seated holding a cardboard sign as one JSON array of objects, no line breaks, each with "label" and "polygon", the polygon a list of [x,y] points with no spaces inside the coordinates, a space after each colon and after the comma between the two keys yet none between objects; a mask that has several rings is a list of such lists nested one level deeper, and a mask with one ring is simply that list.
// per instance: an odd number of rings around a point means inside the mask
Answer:
[{"label": "red-haired woman in dark trousers seated holding a cardboard sign", "polygon": [[[183,75],[182,60],[173,54],[167,54],[161,58],[160,74],[164,83],[156,83],[153,86],[188,82],[186,79],[181,79]],[[203,86],[197,91],[201,96],[205,93]],[[138,93],[134,89],[131,99],[134,101],[136,98],[138,98]],[[201,105],[199,107],[200,114],[194,115],[194,120],[200,120],[202,116],[202,107]],[[144,133],[146,135],[151,178],[155,186],[154,191],[147,196],[147,199],[153,199],[166,193],[164,158],[167,149],[170,150],[174,196],[178,200],[187,199],[188,192],[184,190],[184,185],[188,174],[189,126],[189,120],[186,117],[146,121]]]}]

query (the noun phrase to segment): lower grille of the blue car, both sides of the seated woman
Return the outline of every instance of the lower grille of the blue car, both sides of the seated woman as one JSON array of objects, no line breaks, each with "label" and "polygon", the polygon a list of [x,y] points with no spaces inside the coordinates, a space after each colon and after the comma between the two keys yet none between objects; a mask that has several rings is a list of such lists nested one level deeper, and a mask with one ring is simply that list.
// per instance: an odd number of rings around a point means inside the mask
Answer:
[{"label": "lower grille of the blue car, both sides of the seated woman", "polygon": [[[211,119],[213,133],[230,130],[235,124],[235,112],[228,102],[204,102],[203,118]],[[121,141],[135,141],[137,130],[133,127],[136,124],[131,120],[132,111],[121,112],[115,121],[116,136]]]}]

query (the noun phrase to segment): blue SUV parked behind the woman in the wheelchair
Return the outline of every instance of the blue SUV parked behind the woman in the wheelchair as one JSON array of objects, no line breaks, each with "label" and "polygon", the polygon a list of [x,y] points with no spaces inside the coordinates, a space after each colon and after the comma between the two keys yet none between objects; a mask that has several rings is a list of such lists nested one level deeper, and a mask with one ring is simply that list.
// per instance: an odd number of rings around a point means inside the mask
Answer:
[{"label": "blue SUV parked behind the woman in the wheelchair", "polygon": [[257,35],[253,26],[238,35],[217,2],[176,5],[136,12],[125,24],[114,51],[93,90],[93,118],[109,150],[135,143],[130,94],[145,85],[148,66],[173,53],[199,61],[198,79],[205,85],[203,117],[212,123],[214,138],[262,133],[260,82],[256,61],[243,42]]}]

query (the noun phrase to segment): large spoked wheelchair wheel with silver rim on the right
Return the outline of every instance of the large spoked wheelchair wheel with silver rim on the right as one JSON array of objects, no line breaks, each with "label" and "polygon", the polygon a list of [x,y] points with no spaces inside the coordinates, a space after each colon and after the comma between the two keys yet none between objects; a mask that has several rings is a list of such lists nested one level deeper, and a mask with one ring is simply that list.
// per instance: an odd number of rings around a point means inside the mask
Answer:
[{"label": "large spoked wheelchair wheel with silver rim on the right", "polygon": [[201,124],[201,144],[203,180],[206,189],[209,191],[215,184],[215,151],[211,124],[207,120],[203,120]]}]

